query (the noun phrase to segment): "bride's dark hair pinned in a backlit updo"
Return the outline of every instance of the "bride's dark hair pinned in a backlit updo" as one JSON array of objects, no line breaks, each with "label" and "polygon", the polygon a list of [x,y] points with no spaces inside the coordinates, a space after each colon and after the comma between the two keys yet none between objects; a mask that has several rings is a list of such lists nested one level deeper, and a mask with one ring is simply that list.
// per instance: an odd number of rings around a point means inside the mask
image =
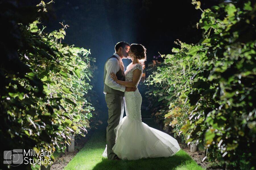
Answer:
[{"label": "bride's dark hair pinned in a backlit updo", "polygon": [[141,44],[131,44],[130,52],[133,54],[134,58],[140,60],[143,68],[145,68],[144,62],[146,61],[146,48]]}]

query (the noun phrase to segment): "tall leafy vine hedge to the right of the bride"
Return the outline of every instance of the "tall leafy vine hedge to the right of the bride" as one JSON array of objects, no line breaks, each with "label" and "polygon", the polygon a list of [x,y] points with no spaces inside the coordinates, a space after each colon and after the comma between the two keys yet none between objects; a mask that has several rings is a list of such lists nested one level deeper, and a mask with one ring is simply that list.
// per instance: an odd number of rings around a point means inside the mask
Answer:
[{"label": "tall leafy vine hedge to the right of the bride", "polygon": [[[173,54],[150,75],[150,93],[164,119],[186,143],[203,143],[204,159],[225,168],[254,169],[256,132],[255,2],[221,1],[201,9],[197,44],[175,42]],[[161,87],[161,88],[159,88]],[[227,163],[227,164],[226,164]]]}]

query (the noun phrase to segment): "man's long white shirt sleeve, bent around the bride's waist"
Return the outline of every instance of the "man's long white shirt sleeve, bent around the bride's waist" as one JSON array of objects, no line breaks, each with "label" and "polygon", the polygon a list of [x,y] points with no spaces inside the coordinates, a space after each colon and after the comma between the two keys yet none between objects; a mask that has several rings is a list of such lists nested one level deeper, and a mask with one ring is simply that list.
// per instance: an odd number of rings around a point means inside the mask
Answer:
[{"label": "man's long white shirt sleeve, bent around the bride's waist", "polygon": [[119,71],[119,69],[120,69],[119,68],[119,63],[118,63],[118,60],[116,58],[110,58],[107,61],[107,63],[106,63],[107,74],[106,74],[105,84],[107,86],[109,86],[110,88],[112,88],[112,89],[124,92],[125,91],[125,86],[122,86],[122,85],[118,84],[110,76],[110,73],[114,72],[116,74]]}]

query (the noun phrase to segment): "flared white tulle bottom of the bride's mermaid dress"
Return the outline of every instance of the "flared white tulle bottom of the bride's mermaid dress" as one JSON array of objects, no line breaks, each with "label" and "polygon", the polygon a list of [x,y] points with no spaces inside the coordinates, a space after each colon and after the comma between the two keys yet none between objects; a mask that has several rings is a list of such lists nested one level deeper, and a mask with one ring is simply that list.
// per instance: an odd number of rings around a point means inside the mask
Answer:
[{"label": "flared white tulle bottom of the bride's mermaid dress", "polygon": [[[129,116],[122,119],[114,132],[116,141],[112,150],[123,160],[169,157],[180,150],[176,139]],[[102,156],[107,157],[106,148]]]}]

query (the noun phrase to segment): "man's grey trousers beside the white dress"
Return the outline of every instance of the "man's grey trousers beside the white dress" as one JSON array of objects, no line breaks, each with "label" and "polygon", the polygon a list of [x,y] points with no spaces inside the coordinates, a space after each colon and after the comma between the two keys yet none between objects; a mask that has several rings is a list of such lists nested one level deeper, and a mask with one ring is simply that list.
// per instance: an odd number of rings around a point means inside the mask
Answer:
[{"label": "man's grey trousers beside the white dress", "polygon": [[105,100],[108,106],[108,126],[107,126],[107,153],[108,159],[113,160],[117,155],[112,148],[115,145],[115,132],[119,122],[123,119],[124,99],[118,94],[105,94]]}]

